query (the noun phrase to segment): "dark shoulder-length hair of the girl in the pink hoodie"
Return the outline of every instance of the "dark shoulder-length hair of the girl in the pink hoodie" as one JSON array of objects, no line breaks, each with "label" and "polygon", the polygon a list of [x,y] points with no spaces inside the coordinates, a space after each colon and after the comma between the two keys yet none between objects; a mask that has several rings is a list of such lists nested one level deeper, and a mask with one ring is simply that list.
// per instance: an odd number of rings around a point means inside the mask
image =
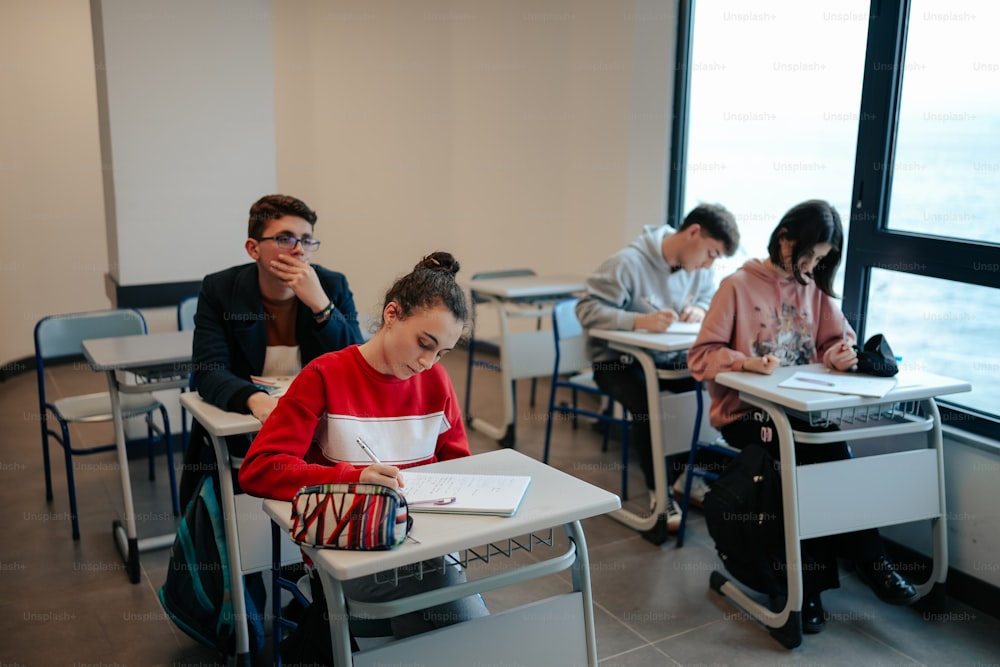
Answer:
[{"label": "dark shoulder-length hair of the girl in the pink hoodie", "polygon": [[[785,266],[782,261],[781,239],[792,242],[791,266]],[[824,294],[836,298],[833,278],[837,274],[840,253],[844,247],[844,228],[840,224],[840,214],[829,202],[811,199],[793,206],[771,233],[767,252],[775,265],[790,272],[795,280],[805,285],[806,279],[799,273],[799,260],[820,243],[829,243],[831,249],[813,269],[813,282]]]}]

